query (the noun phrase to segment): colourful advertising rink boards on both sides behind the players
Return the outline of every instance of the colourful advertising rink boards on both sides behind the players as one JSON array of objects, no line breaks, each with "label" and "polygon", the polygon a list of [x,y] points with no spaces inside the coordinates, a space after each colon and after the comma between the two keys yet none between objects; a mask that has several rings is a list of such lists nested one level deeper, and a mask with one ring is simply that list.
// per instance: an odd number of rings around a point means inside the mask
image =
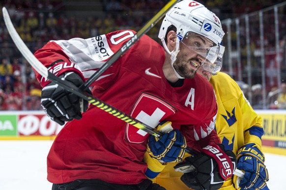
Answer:
[{"label": "colourful advertising rink boards on both sides behind the players", "polygon": [[[263,119],[263,151],[286,155],[286,110],[256,110]],[[62,126],[44,111],[0,111],[0,140],[51,140]]]}]

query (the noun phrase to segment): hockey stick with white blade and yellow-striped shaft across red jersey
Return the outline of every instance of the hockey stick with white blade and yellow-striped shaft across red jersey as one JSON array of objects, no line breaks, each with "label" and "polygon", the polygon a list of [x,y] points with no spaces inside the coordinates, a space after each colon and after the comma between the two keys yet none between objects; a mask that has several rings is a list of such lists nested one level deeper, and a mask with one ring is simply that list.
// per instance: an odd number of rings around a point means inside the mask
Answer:
[{"label": "hockey stick with white blade and yellow-striped shaft across red jersey", "polygon": [[[70,85],[69,83],[65,83],[61,79],[59,79],[57,76],[55,76],[53,73],[48,71],[48,68],[46,68],[30,51],[29,48],[26,46],[26,44],[23,42],[19,34],[17,33],[15,27],[13,26],[11,19],[9,17],[8,11],[5,7],[2,8],[3,18],[5,25],[8,29],[8,32],[15,43],[18,50],[21,52],[21,54],[27,59],[29,64],[44,78],[56,82],[58,85],[63,87],[64,89],[68,90],[71,93],[76,94],[77,96],[85,99],[90,104],[96,106],[99,109],[102,109],[115,117],[121,119],[122,121],[129,123],[133,125],[134,127],[141,129],[145,131],[146,133],[160,138],[164,134],[161,132],[154,130],[152,127],[142,123],[141,121],[131,117],[130,115],[127,115],[126,113],[114,108],[113,106],[101,101],[98,98],[93,97],[92,95],[88,93],[83,93],[79,90],[79,88],[75,85]],[[198,152],[190,147],[187,147],[186,152],[189,154],[198,154]],[[239,172],[237,172],[239,171]],[[240,170],[235,170],[233,172],[234,175],[237,175],[240,178],[243,178],[243,172]]]}]

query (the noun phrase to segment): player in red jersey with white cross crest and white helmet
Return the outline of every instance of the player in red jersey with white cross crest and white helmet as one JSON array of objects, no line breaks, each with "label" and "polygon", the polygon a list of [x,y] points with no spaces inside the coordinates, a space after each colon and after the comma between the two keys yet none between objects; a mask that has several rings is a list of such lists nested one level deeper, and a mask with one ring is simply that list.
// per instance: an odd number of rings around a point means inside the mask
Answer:
[{"label": "player in red jersey with white cross crest and white helmet", "polygon": [[[175,8],[182,5],[182,10]],[[199,13],[202,17],[196,17]],[[193,0],[177,3],[168,14],[171,19],[166,15],[159,32],[164,48],[144,35],[86,91],[153,128],[172,122],[174,130],[160,141],[148,143],[150,155],[163,162],[180,161],[188,145],[221,168],[224,165],[205,148],[214,147],[231,170],[214,171],[216,178],[224,180],[234,168],[231,155],[216,145],[220,140],[213,130],[217,114],[214,91],[196,75],[203,62],[216,60],[224,32],[219,19]],[[35,56],[50,72],[80,86],[134,34],[119,30],[88,39],[49,41]],[[147,133],[88,107],[85,100],[39,74],[36,77],[43,87],[43,109],[54,121],[65,124],[47,158],[53,190],[164,189],[145,176]]]}]

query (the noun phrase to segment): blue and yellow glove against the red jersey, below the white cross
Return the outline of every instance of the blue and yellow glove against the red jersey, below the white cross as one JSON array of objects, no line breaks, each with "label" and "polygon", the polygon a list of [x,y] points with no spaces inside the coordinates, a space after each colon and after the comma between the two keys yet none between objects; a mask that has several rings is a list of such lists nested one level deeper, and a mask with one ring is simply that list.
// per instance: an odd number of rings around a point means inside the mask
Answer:
[{"label": "blue and yellow glove against the red jersey, below the white cross", "polygon": [[[160,128],[171,128],[172,123],[161,122],[157,130],[160,131]],[[185,148],[187,147],[185,137],[175,129],[165,133],[161,138],[155,138],[150,136],[147,143],[147,152],[149,155],[161,161],[161,163],[171,163],[171,162],[180,162],[185,155]]]}]

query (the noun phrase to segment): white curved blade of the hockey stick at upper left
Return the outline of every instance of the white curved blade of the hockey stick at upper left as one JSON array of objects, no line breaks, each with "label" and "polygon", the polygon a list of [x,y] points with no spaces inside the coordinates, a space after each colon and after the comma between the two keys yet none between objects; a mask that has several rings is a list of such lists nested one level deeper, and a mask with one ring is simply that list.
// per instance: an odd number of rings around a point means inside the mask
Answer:
[{"label": "white curved blade of the hockey stick at upper left", "polygon": [[29,51],[29,48],[23,42],[15,27],[13,26],[9,17],[8,11],[5,7],[2,8],[3,18],[8,32],[17,46],[18,50],[23,54],[31,66],[44,78],[48,78],[48,69]]}]

